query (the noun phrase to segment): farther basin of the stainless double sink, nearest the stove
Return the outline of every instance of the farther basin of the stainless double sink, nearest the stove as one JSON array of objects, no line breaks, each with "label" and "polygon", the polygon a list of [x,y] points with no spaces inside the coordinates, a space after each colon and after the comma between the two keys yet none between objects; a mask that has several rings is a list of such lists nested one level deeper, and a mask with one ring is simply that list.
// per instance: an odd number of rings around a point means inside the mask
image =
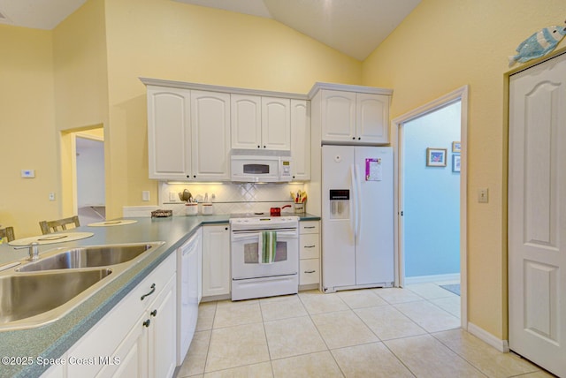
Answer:
[{"label": "farther basin of the stainless double sink, nearest the stove", "polygon": [[146,253],[157,246],[158,243],[138,243],[114,246],[82,246],[73,249],[57,250],[49,256],[41,256],[40,260],[28,262],[17,268],[17,272],[33,272],[38,270],[95,268],[107,267],[134,260],[142,253]]}]

